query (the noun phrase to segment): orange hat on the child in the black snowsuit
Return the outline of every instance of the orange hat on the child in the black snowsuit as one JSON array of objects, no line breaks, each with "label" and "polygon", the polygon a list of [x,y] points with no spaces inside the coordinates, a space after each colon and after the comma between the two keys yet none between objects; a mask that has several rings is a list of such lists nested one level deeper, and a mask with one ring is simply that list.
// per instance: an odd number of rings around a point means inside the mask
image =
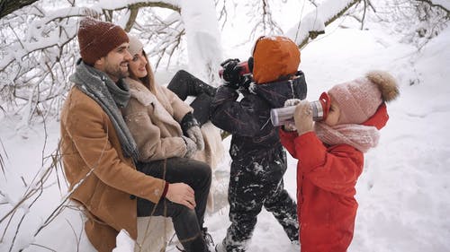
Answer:
[{"label": "orange hat on the child in the black snowsuit", "polygon": [[282,36],[261,37],[253,49],[253,79],[270,83],[281,76],[295,74],[300,65],[300,50],[293,40]]}]

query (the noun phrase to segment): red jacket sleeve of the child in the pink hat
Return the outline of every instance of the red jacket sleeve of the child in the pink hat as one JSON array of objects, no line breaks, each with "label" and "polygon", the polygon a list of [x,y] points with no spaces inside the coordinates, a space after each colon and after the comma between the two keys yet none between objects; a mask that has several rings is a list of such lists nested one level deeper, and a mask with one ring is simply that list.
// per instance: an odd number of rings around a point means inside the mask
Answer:
[{"label": "red jacket sleeve of the child in the pink hat", "polygon": [[313,132],[299,135],[294,143],[303,176],[329,192],[355,196],[356,180],[363,171],[363,152],[347,144],[327,149]]}]

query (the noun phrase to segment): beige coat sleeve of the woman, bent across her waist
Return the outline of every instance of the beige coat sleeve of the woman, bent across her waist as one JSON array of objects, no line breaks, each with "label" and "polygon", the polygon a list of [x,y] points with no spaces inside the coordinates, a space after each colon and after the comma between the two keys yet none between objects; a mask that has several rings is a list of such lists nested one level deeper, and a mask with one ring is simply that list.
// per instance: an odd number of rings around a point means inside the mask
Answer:
[{"label": "beige coat sleeve of the woman, bent across her waist", "polygon": [[131,99],[128,109],[136,111],[125,117],[131,135],[138,145],[139,161],[157,161],[166,158],[184,157],[186,144],[180,136],[162,137],[161,129],[149,117],[152,105],[147,107]]}]

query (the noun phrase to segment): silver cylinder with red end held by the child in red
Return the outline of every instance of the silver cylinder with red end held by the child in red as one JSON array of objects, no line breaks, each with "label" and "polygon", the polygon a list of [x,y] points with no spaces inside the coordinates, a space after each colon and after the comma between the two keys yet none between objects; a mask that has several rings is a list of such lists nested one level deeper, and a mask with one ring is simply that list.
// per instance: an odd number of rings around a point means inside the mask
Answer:
[{"label": "silver cylinder with red end held by the child in red", "polygon": [[[310,103],[312,119],[314,121],[325,120],[329,115],[329,95],[323,92],[319,100],[314,100]],[[274,126],[282,126],[285,123],[293,122],[293,113],[296,106],[271,109],[270,120]]]}]

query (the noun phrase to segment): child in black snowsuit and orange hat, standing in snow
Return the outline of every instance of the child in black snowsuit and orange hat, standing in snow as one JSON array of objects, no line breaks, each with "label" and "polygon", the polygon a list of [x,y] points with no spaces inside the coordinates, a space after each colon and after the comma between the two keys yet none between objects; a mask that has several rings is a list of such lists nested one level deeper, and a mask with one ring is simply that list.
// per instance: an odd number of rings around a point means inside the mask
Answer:
[{"label": "child in black snowsuit and orange hat, standing in snow", "polygon": [[[299,239],[296,204],[284,189],[286,153],[270,109],[284,101],[306,97],[306,83],[298,71],[300,51],[291,39],[261,37],[248,61],[250,83],[239,72],[238,60],[227,60],[225,83],[211,103],[211,122],[232,134],[229,147],[229,221],[227,236],[216,251],[246,251],[262,207],[273,213],[289,239]],[[238,90],[243,98],[238,99]]]}]

